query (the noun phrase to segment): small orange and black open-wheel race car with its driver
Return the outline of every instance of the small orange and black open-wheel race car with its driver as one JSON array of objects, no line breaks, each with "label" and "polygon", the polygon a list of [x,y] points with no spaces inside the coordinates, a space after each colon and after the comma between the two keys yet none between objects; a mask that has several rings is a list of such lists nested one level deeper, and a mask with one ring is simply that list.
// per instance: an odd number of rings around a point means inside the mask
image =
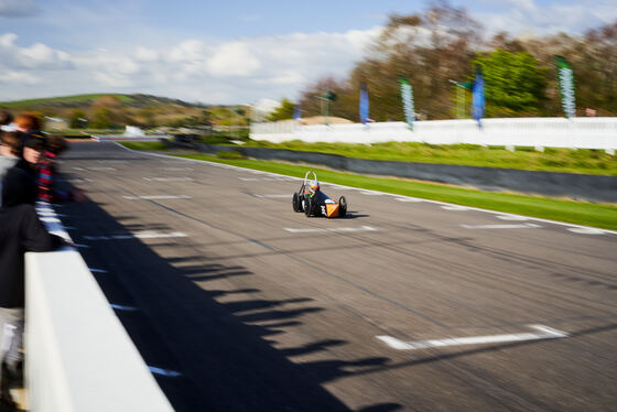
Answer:
[{"label": "small orange and black open-wheel race car with its driver", "polygon": [[[313,180],[308,176],[313,174]],[[293,194],[293,212],[304,212],[306,216],[344,217],[347,214],[347,200],[340,196],[338,202],[329,198],[320,188],[317,174],[306,172],[300,191]]]}]

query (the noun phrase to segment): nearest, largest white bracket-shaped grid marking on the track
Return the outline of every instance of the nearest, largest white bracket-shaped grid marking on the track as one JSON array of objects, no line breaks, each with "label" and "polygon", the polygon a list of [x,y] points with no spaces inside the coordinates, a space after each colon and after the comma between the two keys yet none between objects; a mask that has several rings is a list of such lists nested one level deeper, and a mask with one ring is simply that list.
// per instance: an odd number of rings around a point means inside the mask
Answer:
[{"label": "nearest, largest white bracket-shaped grid marking on the track", "polygon": [[539,332],[509,334],[509,335],[454,337],[454,338],[446,338],[446,339],[430,339],[430,340],[415,340],[415,341],[403,341],[391,336],[377,336],[377,338],[393,349],[416,350],[416,349],[424,349],[424,348],[440,348],[444,346],[486,345],[486,344],[499,344],[499,343],[507,343],[507,341],[558,339],[558,338],[564,338],[569,336],[569,334],[565,332],[553,329],[552,327],[544,326],[544,325],[528,325],[528,326]]}]

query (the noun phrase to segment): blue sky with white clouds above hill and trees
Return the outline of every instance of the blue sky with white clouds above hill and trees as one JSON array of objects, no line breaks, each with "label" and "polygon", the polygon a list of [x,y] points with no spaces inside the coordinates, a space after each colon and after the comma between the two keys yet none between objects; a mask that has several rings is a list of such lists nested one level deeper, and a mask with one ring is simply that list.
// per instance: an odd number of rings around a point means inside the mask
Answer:
[{"label": "blue sky with white clouds above hill and trees", "polygon": [[[474,0],[487,33],[582,34],[615,0]],[[425,0],[0,0],[0,101],[90,93],[192,102],[295,100],[345,78],[387,23]]]}]

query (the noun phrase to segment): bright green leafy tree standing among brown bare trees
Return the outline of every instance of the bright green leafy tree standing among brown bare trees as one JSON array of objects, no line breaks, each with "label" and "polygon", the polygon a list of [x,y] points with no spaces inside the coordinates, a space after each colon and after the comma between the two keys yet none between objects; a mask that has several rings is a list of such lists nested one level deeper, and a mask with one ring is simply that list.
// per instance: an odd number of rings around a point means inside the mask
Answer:
[{"label": "bright green leafy tree standing among brown bare trees", "polygon": [[483,68],[488,116],[542,112],[549,68],[529,52],[497,48],[474,63]]}]

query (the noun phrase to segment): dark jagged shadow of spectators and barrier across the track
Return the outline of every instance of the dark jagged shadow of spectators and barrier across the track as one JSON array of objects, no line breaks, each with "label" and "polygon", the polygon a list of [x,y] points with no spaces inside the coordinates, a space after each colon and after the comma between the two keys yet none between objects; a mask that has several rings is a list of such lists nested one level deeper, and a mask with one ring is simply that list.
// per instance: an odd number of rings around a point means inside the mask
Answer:
[{"label": "dark jagged shadow of spectators and barrier across the track", "polygon": [[[65,224],[77,228],[71,232],[73,239],[90,246],[80,250],[88,267],[107,271],[95,277],[108,301],[129,307],[116,313],[145,362],[159,368],[154,376],[176,411],[349,411],[322,383],[387,365],[387,358],[294,364],[290,357],[346,344],[332,338],[275,349],[266,339],[301,325],[303,315],[324,310],[311,299],[262,300],[253,288],[208,288],[210,281],[253,273],[228,261],[182,257],[187,239],[177,243],[162,239],[155,248],[167,258],[137,238],[83,240],[87,235],[152,230],[131,224],[131,216],[116,219],[95,203],[66,205],[63,214]],[[242,301],[215,300],[247,294],[250,297]],[[181,375],[170,376],[173,372]],[[379,403],[361,411],[399,408]]]}]

